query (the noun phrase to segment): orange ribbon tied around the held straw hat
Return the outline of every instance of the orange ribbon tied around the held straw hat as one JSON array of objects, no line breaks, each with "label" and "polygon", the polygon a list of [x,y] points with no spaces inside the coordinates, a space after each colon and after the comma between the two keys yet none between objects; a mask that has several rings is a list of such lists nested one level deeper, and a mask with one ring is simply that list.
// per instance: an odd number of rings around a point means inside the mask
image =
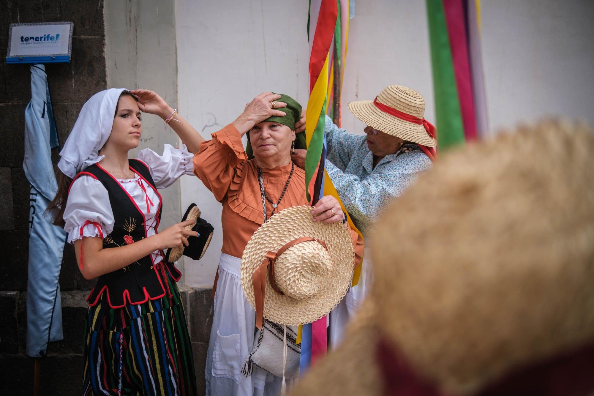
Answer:
[{"label": "orange ribbon tied around the held straw hat", "polygon": [[312,238],[312,237],[301,237],[286,243],[285,246],[281,247],[278,252],[274,253],[269,251],[266,253],[266,257],[264,261],[256,268],[254,271],[254,275],[252,276],[252,281],[254,282],[254,302],[256,308],[256,327],[258,329],[262,329],[262,325],[264,323],[264,296],[266,294],[266,273],[268,272],[268,266],[270,266],[270,285],[272,286],[273,290],[276,293],[279,293],[281,296],[285,293],[280,291],[276,287],[276,281],[274,281],[274,263],[276,259],[283,253],[285,250],[289,249],[291,246],[295,246],[298,243],[308,242],[308,241],[318,241],[324,249],[328,250],[326,243],[324,241]]}]

